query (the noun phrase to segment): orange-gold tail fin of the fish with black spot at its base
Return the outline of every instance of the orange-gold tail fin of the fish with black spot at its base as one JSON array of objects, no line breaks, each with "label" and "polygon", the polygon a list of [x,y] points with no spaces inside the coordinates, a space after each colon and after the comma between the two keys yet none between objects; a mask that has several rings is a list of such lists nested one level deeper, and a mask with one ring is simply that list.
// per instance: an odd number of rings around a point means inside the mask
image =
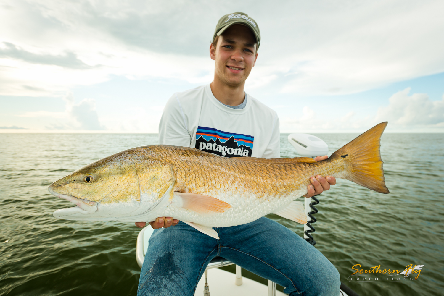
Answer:
[{"label": "orange-gold tail fin of the fish with black spot at its base", "polygon": [[344,178],[379,193],[389,193],[385,186],[382,169],[381,134],[387,122],[367,130],[353,141],[330,156],[330,159],[343,158],[345,161]]}]

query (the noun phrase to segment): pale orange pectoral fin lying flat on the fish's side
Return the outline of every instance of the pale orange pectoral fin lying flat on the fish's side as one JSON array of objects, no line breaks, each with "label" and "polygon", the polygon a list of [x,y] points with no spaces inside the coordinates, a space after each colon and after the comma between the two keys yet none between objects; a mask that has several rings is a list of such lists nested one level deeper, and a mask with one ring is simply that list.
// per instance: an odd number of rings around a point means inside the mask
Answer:
[{"label": "pale orange pectoral fin lying flat on the fish's side", "polygon": [[176,204],[178,208],[188,209],[203,216],[212,216],[223,213],[226,209],[231,209],[231,205],[225,201],[208,195],[174,192],[174,197],[174,204]]}]

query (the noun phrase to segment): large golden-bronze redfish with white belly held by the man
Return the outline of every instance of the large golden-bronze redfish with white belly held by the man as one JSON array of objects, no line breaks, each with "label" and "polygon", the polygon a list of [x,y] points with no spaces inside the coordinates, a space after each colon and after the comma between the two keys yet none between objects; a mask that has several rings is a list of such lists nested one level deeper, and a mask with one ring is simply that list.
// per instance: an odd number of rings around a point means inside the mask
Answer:
[{"label": "large golden-bronze redfish with white belly held by the man", "polygon": [[224,158],[194,148],[153,145],[93,162],[49,186],[77,206],[68,220],[155,221],[173,217],[218,238],[212,227],[249,223],[269,213],[305,224],[296,198],[309,178],[344,178],[380,193],[385,186],[380,138],[387,122],[361,134],[330,158]]}]

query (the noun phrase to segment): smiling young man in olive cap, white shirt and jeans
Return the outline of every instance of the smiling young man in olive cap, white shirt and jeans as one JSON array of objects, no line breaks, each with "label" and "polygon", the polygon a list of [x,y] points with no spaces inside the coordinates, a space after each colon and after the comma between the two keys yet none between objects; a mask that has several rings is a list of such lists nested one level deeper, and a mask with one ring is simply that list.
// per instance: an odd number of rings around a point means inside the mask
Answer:
[{"label": "smiling young man in olive cap, white shirt and jeans", "polygon": [[[259,42],[258,24],[245,13],[219,20],[210,45],[214,80],[170,98],[159,125],[160,144],[194,147],[224,157],[280,157],[276,112],[244,92]],[[336,182],[332,176],[319,175],[310,181],[306,197]],[[339,293],[339,273],[329,260],[268,218],[214,228],[219,240],[172,217],[159,217],[150,224],[156,230],[143,262],[138,295],[192,296],[206,265],[216,256],[273,280],[289,295]]]}]

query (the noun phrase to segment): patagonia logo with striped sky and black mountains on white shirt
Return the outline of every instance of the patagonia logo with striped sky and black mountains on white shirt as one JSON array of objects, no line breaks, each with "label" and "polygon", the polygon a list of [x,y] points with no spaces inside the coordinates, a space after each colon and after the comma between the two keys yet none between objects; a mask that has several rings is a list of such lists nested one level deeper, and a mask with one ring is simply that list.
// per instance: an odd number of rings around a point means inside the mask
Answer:
[{"label": "patagonia logo with striped sky and black mountains on white shirt", "polygon": [[195,148],[225,157],[251,156],[253,140],[253,136],[246,134],[234,134],[198,126]]}]

